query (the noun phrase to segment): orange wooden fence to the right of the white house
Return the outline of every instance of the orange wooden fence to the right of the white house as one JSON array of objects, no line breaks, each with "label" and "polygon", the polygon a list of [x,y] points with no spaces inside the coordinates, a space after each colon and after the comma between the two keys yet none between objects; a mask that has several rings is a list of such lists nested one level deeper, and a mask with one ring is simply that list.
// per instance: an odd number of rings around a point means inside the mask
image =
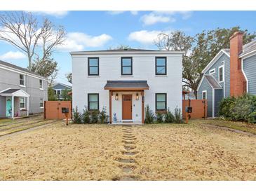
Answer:
[{"label": "orange wooden fence to the right of the white house", "polygon": [[[182,117],[186,118],[186,107],[189,107],[189,100],[182,100]],[[192,107],[191,118],[206,118],[207,117],[207,100],[190,100]]]}]

